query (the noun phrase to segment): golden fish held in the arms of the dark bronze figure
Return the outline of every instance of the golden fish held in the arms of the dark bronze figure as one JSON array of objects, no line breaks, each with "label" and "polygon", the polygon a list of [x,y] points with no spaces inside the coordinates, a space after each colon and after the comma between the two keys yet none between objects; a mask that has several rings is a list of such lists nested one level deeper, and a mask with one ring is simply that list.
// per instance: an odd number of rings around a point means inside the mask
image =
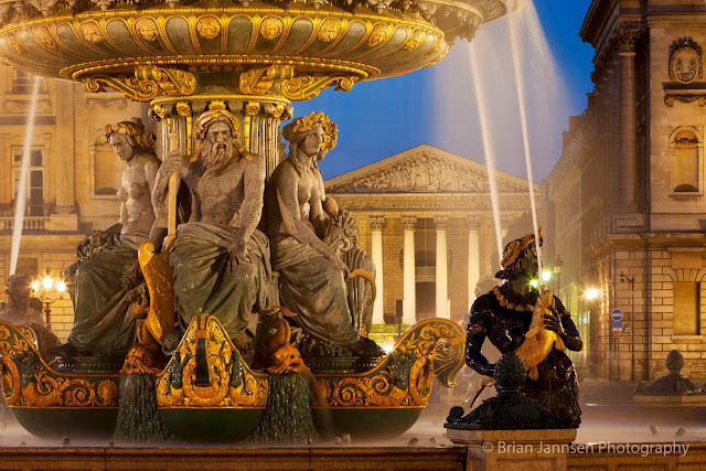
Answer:
[{"label": "golden fish held in the arms of the dark bronze figure", "polygon": [[[537,365],[549,355],[552,349],[564,351],[566,346],[564,341],[556,332],[545,329],[544,315],[553,315],[552,309],[554,308],[554,295],[549,290],[545,290],[537,299],[534,310],[532,312],[532,321],[530,322],[530,330],[525,333],[525,340],[515,350],[515,354],[520,356],[522,363],[525,365],[525,371],[531,379],[537,381],[539,374],[537,372]],[[483,389],[495,383],[495,378],[485,376],[481,382],[480,387],[472,400],[468,402],[468,407],[473,407],[475,399],[483,392]]]}]

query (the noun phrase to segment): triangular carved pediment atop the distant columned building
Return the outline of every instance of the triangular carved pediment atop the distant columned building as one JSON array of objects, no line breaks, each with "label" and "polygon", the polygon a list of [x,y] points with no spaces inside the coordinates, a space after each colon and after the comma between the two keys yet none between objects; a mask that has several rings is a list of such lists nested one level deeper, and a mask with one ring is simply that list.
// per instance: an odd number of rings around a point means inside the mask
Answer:
[{"label": "triangular carved pediment atop the distant columned building", "polygon": [[[527,182],[496,171],[498,191],[527,192]],[[327,193],[489,193],[484,164],[422,144],[327,180]],[[537,189],[538,190],[538,189]]]}]

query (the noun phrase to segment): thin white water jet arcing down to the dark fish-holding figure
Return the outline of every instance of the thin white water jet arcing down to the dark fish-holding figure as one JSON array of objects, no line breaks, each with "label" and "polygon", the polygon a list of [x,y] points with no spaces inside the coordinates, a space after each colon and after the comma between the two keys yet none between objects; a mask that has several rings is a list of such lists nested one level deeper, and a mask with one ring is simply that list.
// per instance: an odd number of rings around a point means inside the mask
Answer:
[{"label": "thin white water jet arcing down to the dark fish-holding figure", "polygon": [[534,180],[532,175],[532,156],[530,151],[530,136],[527,132],[527,110],[525,101],[525,89],[523,86],[522,74],[520,71],[520,39],[517,30],[522,25],[522,21],[527,18],[530,11],[534,11],[532,0],[523,1],[523,8],[507,18],[507,29],[510,30],[510,44],[512,50],[512,65],[515,73],[515,87],[517,89],[517,105],[520,107],[520,122],[522,125],[522,143],[524,147],[525,165],[527,168],[527,183],[530,186],[530,205],[532,207],[532,225],[534,228],[535,247],[537,249],[537,269],[539,275],[539,287],[544,289],[544,276],[542,274],[542,249],[539,247],[539,227],[537,224],[537,205],[534,201]]}]

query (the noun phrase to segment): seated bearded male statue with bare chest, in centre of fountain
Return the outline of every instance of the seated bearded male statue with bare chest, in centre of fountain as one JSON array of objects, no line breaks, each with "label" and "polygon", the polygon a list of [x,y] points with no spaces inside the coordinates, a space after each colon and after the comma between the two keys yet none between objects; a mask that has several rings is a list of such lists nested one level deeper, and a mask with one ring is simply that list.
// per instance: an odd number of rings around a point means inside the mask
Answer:
[{"label": "seated bearded male statue with bare chest, in centre of fountain", "polygon": [[[269,242],[256,227],[263,212],[265,162],[239,148],[237,118],[212,104],[195,122],[196,151],[188,167],[172,152],[160,168],[153,201],[165,234],[168,180],[176,172],[189,193],[188,221],[179,225],[170,265],[182,328],[213,314],[240,350],[253,311],[269,307]],[[186,214],[184,213],[184,214]],[[157,244],[156,244],[157,245]]]}]

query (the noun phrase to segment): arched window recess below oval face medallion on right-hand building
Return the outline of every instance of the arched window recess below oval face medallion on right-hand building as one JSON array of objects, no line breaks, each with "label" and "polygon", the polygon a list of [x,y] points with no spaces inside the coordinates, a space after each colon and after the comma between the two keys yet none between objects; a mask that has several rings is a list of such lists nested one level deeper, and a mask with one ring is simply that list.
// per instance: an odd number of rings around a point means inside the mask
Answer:
[{"label": "arched window recess below oval face medallion on right-hand building", "polygon": [[670,139],[672,148],[672,192],[675,194],[703,191],[703,141],[695,128],[677,128]]}]

